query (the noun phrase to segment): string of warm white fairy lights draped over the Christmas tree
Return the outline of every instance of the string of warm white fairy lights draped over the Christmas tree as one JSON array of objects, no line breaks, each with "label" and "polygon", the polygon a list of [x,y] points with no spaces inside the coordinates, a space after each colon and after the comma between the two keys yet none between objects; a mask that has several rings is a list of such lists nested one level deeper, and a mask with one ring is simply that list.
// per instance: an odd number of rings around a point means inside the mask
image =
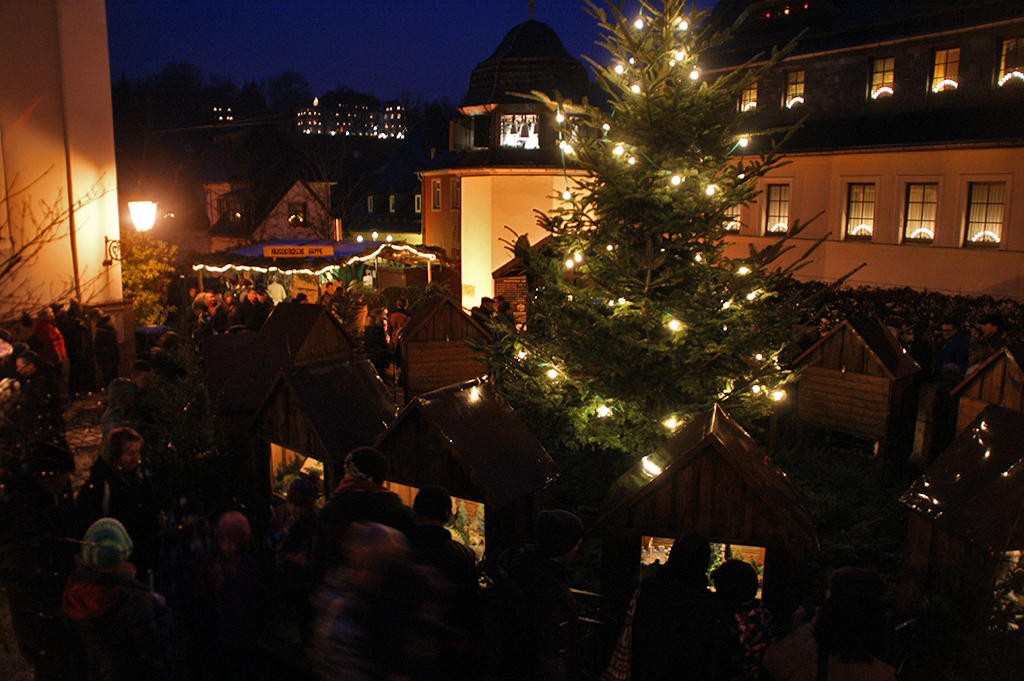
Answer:
[{"label": "string of warm white fairy lights draped over the Christmas tree", "polygon": [[[674,36],[683,35],[689,30],[689,22],[683,16],[666,17],[665,20],[669,26],[675,27],[675,30],[671,32],[671,35]],[[636,20],[632,23],[632,26],[636,31],[643,32],[645,29],[648,29],[648,27],[650,27],[650,24],[645,19],[641,11],[640,15],[636,18]],[[691,61],[691,59],[689,58],[690,53],[687,51],[686,46],[683,45],[682,42],[683,41],[680,40],[680,44],[668,46],[657,58],[668,58],[668,65],[671,69],[675,68],[689,69],[689,72],[687,73],[688,79],[694,84],[699,83],[701,78],[700,70],[697,68],[695,63],[690,63]],[[606,70],[605,76],[610,82],[618,84],[625,96],[629,96],[626,94],[627,92],[631,93],[632,95],[644,95],[645,93],[644,86],[642,85],[643,75],[637,73],[637,62],[636,59],[632,56],[629,57],[625,62],[616,63],[614,67]],[[621,159],[624,163],[626,163],[629,166],[635,166],[638,163],[640,163],[641,160],[643,160],[643,162],[645,162],[648,165],[648,167],[653,168],[654,170],[663,174],[666,178],[667,185],[673,188],[684,185],[689,176],[696,174],[696,173],[689,173],[685,170],[663,168],[658,166],[656,163],[652,162],[651,159],[646,154],[644,154],[643,151],[638,146],[631,145],[625,141],[616,140],[614,138],[614,135],[612,134],[612,126],[610,120],[613,119],[613,117],[614,117],[614,112],[611,113],[609,120],[602,122],[602,125],[600,127],[601,129],[600,141],[608,150],[610,150],[609,153],[613,159]],[[571,157],[575,154],[575,148],[573,146],[572,141],[574,133],[578,129],[574,127],[571,129],[566,129],[566,122],[568,121],[571,124],[571,121],[562,111],[561,107],[556,109],[555,121],[558,124],[557,139],[558,139],[558,147],[560,151],[560,158],[562,162],[562,175],[565,182],[565,189],[562,193],[561,198],[565,202],[572,202],[574,196],[571,189],[569,188],[567,161],[568,157]],[[737,148],[745,148],[749,145],[749,143],[750,143],[750,138],[748,135],[739,135],[735,139],[735,143],[727,152],[727,155],[733,154]],[[739,168],[739,170],[742,170],[742,168]],[[736,175],[736,179],[739,180],[740,182],[744,181],[746,179],[745,173],[743,172],[738,173]],[[703,194],[709,198],[715,197],[720,191],[721,187],[719,186],[719,183],[717,181],[709,181],[707,182],[707,184],[703,185]],[[609,244],[605,246],[605,249],[609,252],[613,252],[615,247]],[[566,257],[564,261],[564,266],[566,269],[580,269],[581,267],[585,266],[585,259],[586,256],[584,253],[584,249],[583,248],[578,249],[574,253]],[[694,261],[697,263],[706,263],[707,259],[700,253],[696,253],[694,255]],[[738,265],[735,269],[735,273],[739,276],[746,276],[751,274],[752,271],[753,270],[748,265]],[[742,295],[742,300],[752,303],[756,302],[762,293],[763,292],[760,289],[750,291],[744,295]],[[571,296],[569,296],[569,298],[571,299]],[[609,306],[615,306],[616,304],[627,305],[629,304],[629,301],[627,301],[625,298],[617,298],[617,299],[610,298],[608,299],[607,304]],[[722,309],[726,310],[732,307],[733,305],[739,305],[739,304],[740,304],[739,302],[734,302],[731,299],[724,300],[722,302]],[[665,326],[673,334],[682,333],[686,330],[687,325],[683,321],[676,318],[674,315],[669,313],[666,313],[665,317],[666,317]],[[727,325],[723,326],[723,331],[728,331]],[[529,356],[529,352],[526,349],[520,347],[515,356],[516,359],[518,359],[519,361],[524,361]],[[766,356],[763,353],[757,353],[754,355],[753,359],[755,363],[759,364],[762,370],[768,369],[770,373],[777,373],[778,370],[780,369],[777,356],[775,356],[774,354]],[[558,364],[554,359],[540,360],[537,361],[535,366],[542,369],[543,374],[551,381],[571,378],[568,375],[568,373],[566,373],[564,368],[559,368]],[[748,383],[743,387],[745,389],[749,389],[750,393],[756,397],[764,397],[773,401],[780,401],[784,399],[786,396],[785,390],[783,390],[779,385],[776,385],[774,387],[769,387],[763,385],[761,382],[753,381],[751,383]],[[726,390],[723,390],[719,393],[718,395],[719,399],[725,399],[730,397],[733,394],[733,389],[734,386],[729,385]],[[593,391],[591,390],[591,392]],[[593,416],[597,419],[611,418],[615,412],[614,401],[609,399],[604,399],[596,392],[594,392],[594,395],[595,395],[594,397],[595,406],[592,407]],[[660,423],[670,431],[673,431],[676,428],[678,428],[680,425],[684,423],[684,421],[685,421],[685,415],[681,412],[675,412],[672,414],[665,415],[660,419]]]}]

